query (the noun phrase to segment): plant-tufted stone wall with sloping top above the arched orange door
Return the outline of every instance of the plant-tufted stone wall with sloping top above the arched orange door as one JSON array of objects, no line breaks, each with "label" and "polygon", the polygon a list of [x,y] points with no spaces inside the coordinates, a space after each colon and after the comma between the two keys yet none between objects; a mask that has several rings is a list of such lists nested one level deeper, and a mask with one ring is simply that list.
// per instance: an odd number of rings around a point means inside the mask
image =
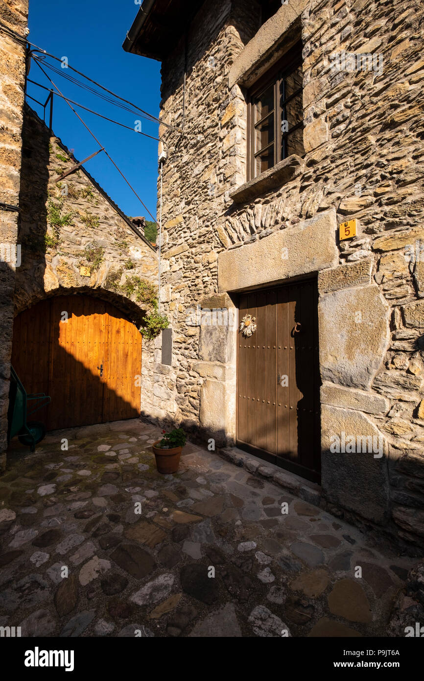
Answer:
[{"label": "plant-tufted stone wall with sloping top above the arched orange door", "polygon": [[[48,296],[86,293],[109,300],[140,327],[146,305],[131,291],[131,279],[157,285],[156,249],[85,168],[57,181],[78,161],[27,106],[22,139],[15,314]],[[152,400],[153,346],[143,343],[142,404]]]}]

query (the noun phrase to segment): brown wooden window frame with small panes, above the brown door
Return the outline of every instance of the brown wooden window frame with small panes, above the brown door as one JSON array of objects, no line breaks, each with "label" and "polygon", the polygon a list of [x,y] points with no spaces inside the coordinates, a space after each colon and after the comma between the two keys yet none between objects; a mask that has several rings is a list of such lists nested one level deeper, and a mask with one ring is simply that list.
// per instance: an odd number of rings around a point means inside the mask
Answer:
[{"label": "brown wooden window frame with small panes, above the brown door", "polygon": [[[280,96],[278,96],[278,93],[280,93],[280,87],[282,86],[283,91],[284,91],[284,79],[291,73],[293,70],[302,65],[302,58],[301,58],[301,50],[302,50],[302,44],[301,40],[297,41],[291,49],[284,54],[284,57],[280,59],[269,71],[267,71],[255,84],[253,84],[249,89],[247,93],[247,129],[248,129],[248,134],[247,134],[247,180],[254,180],[255,178],[258,178],[263,174],[263,172],[266,172],[263,170],[259,174],[255,174],[255,160],[259,153],[263,153],[267,149],[267,147],[271,146],[274,144],[274,163],[271,166],[271,168],[274,168],[274,166],[277,163],[280,163],[280,161],[287,159],[287,139],[289,138],[289,135],[293,133],[293,131],[297,130],[299,127],[304,127],[304,119],[302,115],[301,121],[297,123],[296,125],[293,125],[287,132],[282,133],[281,131],[281,121],[287,120],[287,118],[284,118],[284,115],[287,116],[286,112],[286,106],[289,104],[291,99],[294,99],[303,91],[303,78],[302,78],[302,85],[299,89],[297,89],[292,95],[287,97],[287,99],[283,99],[280,101]],[[303,76],[303,74],[302,74]],[[255,123],[255,99],[259,97],[262,93],[264,93],[267,89],[270,88],[270,86],[273,86],[274,88],[274,142],[270,142],[270,144],[265,145],[263,148],[259,149],[258,151],[255,151],[255,131],[256,131],[256,126],[264,120],[267,116],[263,116],[259,121],[256,121]],[[284,95],[284,93],[283,93]],[[302,106],[302,114],[303,114],[303,106]],[[284,144],[284,147],[282,149],[282,146]],[[268,170],[271,170],[269,168]]]}]

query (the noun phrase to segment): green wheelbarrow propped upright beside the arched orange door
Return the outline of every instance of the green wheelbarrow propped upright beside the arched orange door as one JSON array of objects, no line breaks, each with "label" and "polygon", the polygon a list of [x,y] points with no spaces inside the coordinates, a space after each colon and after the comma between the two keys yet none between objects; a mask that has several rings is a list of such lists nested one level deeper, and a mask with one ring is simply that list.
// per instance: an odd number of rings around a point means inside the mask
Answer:
[{"label": "green wheelbarrow propped upright beside the arched orange door", "polygon": [[[37,405],[38,402],[39,404]],[[22,445],[31,447],[31,452],[35,452],[35,445],[41,442],[46,435],[46,426],[40,421],[27,421],[27,417],[38,411],[38,409],[46,407],[50,402],[51,398],[44,392],[37,392],[33,395],[27,394],[16,371],[11,366],[9,409],[7,411],[7,443],[10,443],[12,437],[17,435]]]}]

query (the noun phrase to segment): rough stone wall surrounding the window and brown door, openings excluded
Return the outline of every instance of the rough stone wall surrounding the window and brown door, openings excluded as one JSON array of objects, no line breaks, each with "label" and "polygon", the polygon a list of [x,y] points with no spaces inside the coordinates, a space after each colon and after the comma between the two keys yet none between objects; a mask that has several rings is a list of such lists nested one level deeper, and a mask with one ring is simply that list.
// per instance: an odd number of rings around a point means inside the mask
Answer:
[{"label": "rough stone wall surrounding the window and brown door, openings excluded", "polygon": [[[166,375],[157,366],[149,405],[156,417],[206,424],[231,443],[235,335],[201,319],[188,326],[189,311],[216,294],[231,306],[238,288],[319,272],[323,496],[330,508],[421,544],[423,12],[402,1],[312,0],[283,5],[258,31],[253,1],[203,5],[188,28],[184,133],[161,129],[169,148],[163,305],[174,360]],[[246,185],[244,86],[293,44],[297,27],[306,155]],[[343,50],[372,54],[373,66],[338,70],[333,55]],[[184,37],[162,75],[163,121],[181,126]],[[340,242],[338,225],[350,219],[357,236]],[[280,267],[276,244],[289,252]],[[330,452],[333,434],[364,429],[382,438],[381,458]]]}]

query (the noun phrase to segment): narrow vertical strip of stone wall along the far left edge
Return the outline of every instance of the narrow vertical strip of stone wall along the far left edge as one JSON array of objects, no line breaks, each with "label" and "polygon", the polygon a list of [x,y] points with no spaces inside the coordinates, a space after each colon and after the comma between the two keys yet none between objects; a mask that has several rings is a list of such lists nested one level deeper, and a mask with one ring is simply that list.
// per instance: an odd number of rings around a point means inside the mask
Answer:
[{"label": "narrow vertical strip of stone wall along the far left edge", "polygon": [[[0,21],[23,35],[27,27],[28,1],[5,0]],[[25,83],[25,46],[0,31],[0,202],[18,206],[22,106]],[[18,213],[0,210],[0,471],[5,466],[7,408],[9,405],[10,355],[12,353],[13,291],[15,279]],[[12,247],[12,253],[10,251]],[[9,255],[5,256],[4,253]],[[8,262],[7,262],[8,261]]]}]

